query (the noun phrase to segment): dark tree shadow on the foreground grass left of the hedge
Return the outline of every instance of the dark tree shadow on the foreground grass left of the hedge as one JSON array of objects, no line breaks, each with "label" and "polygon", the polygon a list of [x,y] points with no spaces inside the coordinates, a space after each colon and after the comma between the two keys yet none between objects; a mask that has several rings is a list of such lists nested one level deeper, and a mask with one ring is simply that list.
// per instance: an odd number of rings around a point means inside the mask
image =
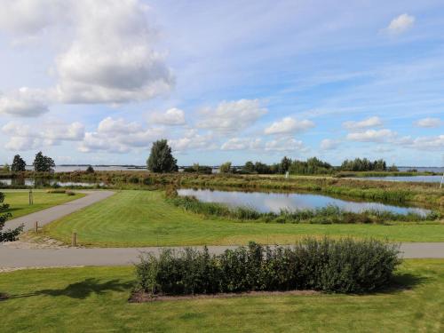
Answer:
[{"label": "dark tree shadow on the foreground grass left of the hedge", "polygon": [[122,282],[120,280],[111,280],[100,282],[98,279],[89,278],[81,282],[75,282],[67,285],[64,289],[42,289],[29,294],[12,295],[10,298],[22,298],[33,296],[52,296],[52,297],[71,297],[75,299],[84,299],[92,294],[103,295],[107,291],[125,291],[130,289],[131,282]]}]

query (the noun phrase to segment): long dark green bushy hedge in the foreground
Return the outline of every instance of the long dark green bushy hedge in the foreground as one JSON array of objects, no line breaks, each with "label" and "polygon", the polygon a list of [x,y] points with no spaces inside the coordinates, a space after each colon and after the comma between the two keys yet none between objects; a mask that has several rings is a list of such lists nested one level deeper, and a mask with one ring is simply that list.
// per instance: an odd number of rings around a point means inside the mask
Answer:
[{"label": "long dark green bushy hedge in the foreground", "polygon": [[248,247],[210,255],[165,249],[140,257],[137,287],[151,294],[188,295],[253,290],[314,289],[363,293],[385,288],[400,265],[397,245],[351,238],[313,238],[294,247]]}]

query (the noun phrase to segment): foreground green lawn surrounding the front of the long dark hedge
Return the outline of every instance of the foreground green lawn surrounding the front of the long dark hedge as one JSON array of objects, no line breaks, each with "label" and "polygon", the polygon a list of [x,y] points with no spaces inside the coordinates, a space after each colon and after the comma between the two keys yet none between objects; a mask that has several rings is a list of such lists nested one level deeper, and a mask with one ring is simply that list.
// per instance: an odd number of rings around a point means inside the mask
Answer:
[{"label": "foreground green lawn surrounding the front of the long dark hedge", "polygon": [[8,332],[442,332],[444,260],[406,260],[408,289],[365,296],[319,294],[127,302],[132,267],[0,274]]}]

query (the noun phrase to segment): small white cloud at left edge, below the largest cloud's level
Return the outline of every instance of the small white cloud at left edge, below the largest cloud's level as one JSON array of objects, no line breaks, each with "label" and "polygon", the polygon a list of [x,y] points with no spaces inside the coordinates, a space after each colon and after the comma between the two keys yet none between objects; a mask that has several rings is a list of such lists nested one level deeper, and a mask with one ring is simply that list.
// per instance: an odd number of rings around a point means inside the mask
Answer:
[{"label": "small white cloud at left edge, below the largest cloud's level", "polygon": [[9,95],[0,95],[0,115],[33,117],[49,111],[46,93],[27,87],[20,88]]}]

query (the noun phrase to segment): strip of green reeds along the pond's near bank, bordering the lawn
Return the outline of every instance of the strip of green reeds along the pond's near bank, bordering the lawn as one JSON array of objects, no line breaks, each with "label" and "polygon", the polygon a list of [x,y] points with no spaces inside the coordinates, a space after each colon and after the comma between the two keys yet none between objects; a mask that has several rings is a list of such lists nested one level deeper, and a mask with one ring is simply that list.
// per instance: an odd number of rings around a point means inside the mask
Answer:
[{"label": "strip of green reeds along the pond's near bank, bordering the lawn", "polygon": [[317,208],[313,210],[281,210],[279,213],[262,213],[250,207],[229,207],[218,202],[201,202],[194,196],[167,195],[167,201],[175,206],[196,214],[206,216],[218,216],[224,218],[234,218],[240,220],[258,220],[267,223],[313,223],[313,224],[334,224],[334,223],[376,223],[383,224],[387,221],[417,222],[431,221],[441,217],[440,212],[432,211],[423,216],[414,212],[408,214],[397,214],[384,210],[362,210],[352,212],[342,210],[335,205]]}]

